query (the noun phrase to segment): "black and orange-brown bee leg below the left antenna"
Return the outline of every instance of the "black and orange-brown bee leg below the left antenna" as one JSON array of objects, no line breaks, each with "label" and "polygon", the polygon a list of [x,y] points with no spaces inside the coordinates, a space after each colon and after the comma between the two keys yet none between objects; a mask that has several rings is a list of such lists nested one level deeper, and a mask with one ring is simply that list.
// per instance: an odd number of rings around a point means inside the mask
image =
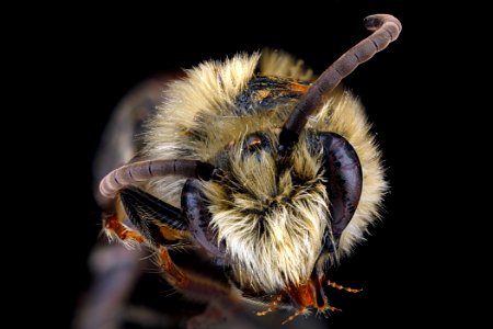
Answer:
[{"label": "black and orange-brown bee leg below the left antenna", "polygon": [[[200,319],[203,318],[207,318],[209,322],[220,322],[225,316],[243,322],[252,322],[242,311],[238,293],[210,279],[183,271],[171,259],[168,248],[173,247],[175,241],[190,239],[190,232],[182,230],[185,222],[182,222],[183,217],[180,211],[175,211],[172,206],[137,188],[126,188],[119,191],[119,200],[122,202],[117,203],[119,207],[117,207],[116,214],[106,216],[104,222],[108,236],[116,237],[124,243],[135,241],[150,243],[156,248],[158,264],[172,286],[183,292],[184,295],[211,302],[205,315],[188,320],[187,328],[202,328],[204,322]],[[125,226],[123,222],[126,217],[138,231]],[[170,234],[170,231],[174,231],[174,234]]]}]

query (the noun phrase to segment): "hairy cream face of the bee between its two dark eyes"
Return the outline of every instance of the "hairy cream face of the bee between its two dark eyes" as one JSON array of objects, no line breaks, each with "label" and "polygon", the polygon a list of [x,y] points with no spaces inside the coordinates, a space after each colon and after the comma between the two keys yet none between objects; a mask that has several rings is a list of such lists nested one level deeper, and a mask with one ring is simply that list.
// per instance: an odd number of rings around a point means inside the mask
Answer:
[{"label": "hairy cream face of the bee between its two dark eyes", "polygon": [[210,225],[234,279],[265,293],[310,277],[329,228],[321,154],[303,141],[288,161],[279,161],[277,145],[275,132],[244,136],[225,150],[219,178],[204,183]]}]

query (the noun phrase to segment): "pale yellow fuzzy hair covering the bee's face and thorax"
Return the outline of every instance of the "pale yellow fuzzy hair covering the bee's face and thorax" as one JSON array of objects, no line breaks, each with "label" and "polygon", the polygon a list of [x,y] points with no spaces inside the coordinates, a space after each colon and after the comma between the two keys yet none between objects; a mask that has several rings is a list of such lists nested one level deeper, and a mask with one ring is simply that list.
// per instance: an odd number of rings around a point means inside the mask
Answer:
[{"label": "pale yellow fuzzy hair covering the bee's face and thorax", "polygon": [[[194,159],[216,167],[228,163],[220,183],[204,183],[211,226],[236,261],[236,279],[242,285],[270,292],[309,279],[324,229],[330,227],[330,200],[320,177],[320,157],[310,152],[303,135],[291,157],[295,174],[278,172],[272,155],[242,154],[241,143],[227,152],[225,160],[225,148],[249,134],[265,132],[276,143],[276,129],[296,104],[291,100],[270,110],[252,110],[251,115],[239,114],[237,100],[255,73],[313,79],[301,63],[282,53],[239,55],[223,63],[202,64],[169,86],[164,103],[150,121],[142,157]],[[348,92],[334,92],[309,118],[309,129],[342,135],[362,163],[362,197],[341,236],[336,251],[341,257],[364,239],[368,224],[378,217],[387,190],[380,154],[363,106]],[[180,206],[183,184],[183,179],[167,177],[142,188]]]}]

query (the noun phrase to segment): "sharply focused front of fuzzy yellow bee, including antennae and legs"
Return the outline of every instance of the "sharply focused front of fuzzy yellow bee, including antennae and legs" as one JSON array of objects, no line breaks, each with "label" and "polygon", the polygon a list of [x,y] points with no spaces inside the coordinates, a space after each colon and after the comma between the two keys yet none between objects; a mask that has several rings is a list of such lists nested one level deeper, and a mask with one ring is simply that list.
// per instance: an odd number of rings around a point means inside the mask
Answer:
[{"label": "sharply focused front of fuzzy yellow bee, including antennae and legs", "polygon": [[[240,54],[187,70],[165,90],[144,147],[107,173],[101,195],[111,239],[156,250],[184,294],[336,310],[325,287],[348,292],[326,269],[351,254],[379,217],[388,189],[359,101],[339,87],[401,32],[392,15],[365,19],[372,34],[320,77],[289,55]],[[179,266],[188,248],[218,266],[229,286]]]}]

